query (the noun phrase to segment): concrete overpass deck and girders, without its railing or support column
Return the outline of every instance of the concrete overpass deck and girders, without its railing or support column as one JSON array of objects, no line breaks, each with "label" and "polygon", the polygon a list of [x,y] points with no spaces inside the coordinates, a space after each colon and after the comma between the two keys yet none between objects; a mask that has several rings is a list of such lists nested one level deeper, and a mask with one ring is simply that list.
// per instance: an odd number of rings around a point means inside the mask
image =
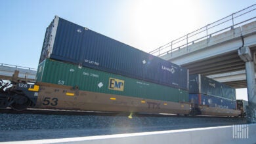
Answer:
[{"label": "concrete overpass deck and girders, without its railing or support column", "polygon": [[234,88],[246,88],[245,63],[238,55],[238,49],[245,46],[255,54],[256,21],[168,52],[161,58],[187,67],[190,74],[201,73]]}]

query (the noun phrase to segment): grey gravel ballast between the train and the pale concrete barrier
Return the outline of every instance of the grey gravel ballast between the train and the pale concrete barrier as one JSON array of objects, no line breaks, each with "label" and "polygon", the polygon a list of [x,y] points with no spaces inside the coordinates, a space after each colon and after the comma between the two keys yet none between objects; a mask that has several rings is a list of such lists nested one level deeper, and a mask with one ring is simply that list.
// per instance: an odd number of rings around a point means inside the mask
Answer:
[{"label": "grey gravel ballast between the train and the pale concrete barrier", "polygon": [[245,118],[0,114],[0,141],[53,139],[245,124]]}]

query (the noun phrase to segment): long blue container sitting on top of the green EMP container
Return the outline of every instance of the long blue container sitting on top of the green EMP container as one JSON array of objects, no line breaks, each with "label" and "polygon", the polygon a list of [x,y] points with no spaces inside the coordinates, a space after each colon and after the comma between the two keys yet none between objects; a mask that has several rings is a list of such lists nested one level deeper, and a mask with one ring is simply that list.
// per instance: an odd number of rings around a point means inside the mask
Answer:
[{"label": "long blue container sitting on top of the green EMP container", "polygon": [[55,16],[47,27],[45,58],[188,90],[188,69]]}]

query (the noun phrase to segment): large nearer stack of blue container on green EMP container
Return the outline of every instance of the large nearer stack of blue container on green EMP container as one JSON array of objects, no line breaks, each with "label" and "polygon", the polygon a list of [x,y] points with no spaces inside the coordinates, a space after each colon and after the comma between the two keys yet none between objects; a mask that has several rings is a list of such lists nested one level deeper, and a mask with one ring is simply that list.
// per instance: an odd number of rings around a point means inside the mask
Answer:
[{"label": "large nearer stack of blue container on green EMP container", "polygon": [[[110,79],[118,79],[117,87],[124,82],[123,90],[112,91]],[[45,33],[37,81],[106,94],[188,101],[188,69],[58,16]]]}]

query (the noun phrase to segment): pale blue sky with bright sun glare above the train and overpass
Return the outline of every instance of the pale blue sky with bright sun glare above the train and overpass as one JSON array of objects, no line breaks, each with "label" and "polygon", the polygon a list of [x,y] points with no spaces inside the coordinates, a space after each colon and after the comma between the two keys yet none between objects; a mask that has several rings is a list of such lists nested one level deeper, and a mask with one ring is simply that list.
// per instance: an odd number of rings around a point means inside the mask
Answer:
[{"label": "pale blue sky with bright sun glare above the train and overpass", "polygon": [[253,4],[253,0],[0,0],[0,63],[37,68],[45,29],[55,15],[150,52]]}]

